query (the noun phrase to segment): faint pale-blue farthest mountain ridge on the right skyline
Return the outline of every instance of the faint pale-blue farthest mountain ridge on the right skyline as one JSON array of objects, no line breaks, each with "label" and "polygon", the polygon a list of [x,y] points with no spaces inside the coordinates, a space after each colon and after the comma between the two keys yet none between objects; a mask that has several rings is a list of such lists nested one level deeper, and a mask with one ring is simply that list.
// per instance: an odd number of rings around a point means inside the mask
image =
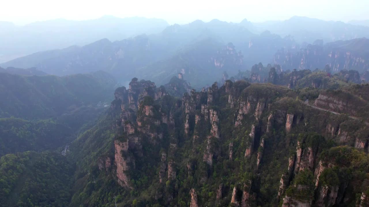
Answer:
[{"label": "faint pale-blue farthest mountain ridge on the right skyline", "polygon": [[290,35],[299,43],[312,43],[316,39],[323,39],[324,42],[333,42],[369,37],[369,27],[308,17],[294,16],[284,21],[266,21],[253,24],[260,32],[269,30],[282,37]]}]

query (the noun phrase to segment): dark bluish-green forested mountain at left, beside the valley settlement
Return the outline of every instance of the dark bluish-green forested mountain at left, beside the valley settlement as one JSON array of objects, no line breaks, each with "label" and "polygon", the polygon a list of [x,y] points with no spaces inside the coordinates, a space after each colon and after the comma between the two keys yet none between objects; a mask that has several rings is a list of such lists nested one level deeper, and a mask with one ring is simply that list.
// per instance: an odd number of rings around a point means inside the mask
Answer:
[{"label": "dark bluish-green forested mountain at left, beside the valley settlement", "polygon": [[111,97],[117,84],[113,77],[93,74],[72,76],[19,76],[0,74],[0,117],[48,119],[83,107],[97,107]]}]

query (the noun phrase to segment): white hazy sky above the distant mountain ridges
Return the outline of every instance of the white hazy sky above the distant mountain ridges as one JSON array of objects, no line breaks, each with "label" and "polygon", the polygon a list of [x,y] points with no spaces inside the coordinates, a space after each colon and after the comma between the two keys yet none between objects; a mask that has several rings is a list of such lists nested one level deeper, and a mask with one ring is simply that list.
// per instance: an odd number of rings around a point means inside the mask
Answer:
[{"label": "white hazy sky above the distant mountain ridges", "polygon": [[260,22],[294,15],[345,22],[369,19],[369,0],[2,0],[0,5],[0,21],[15,24],[103,15],[163,18],[169,24],[214,18]]}]

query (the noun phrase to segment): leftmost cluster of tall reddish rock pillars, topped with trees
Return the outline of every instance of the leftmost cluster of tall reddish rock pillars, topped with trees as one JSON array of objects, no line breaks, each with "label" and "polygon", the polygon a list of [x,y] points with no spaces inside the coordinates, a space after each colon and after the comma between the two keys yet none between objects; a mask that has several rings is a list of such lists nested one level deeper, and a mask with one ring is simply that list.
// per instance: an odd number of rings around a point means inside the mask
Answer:
[{"label": "leftmost cluster of tall reddish rock pillars, topped with trees", "polygon": [[[166,95],[165,88],[156,86],[151,81],[133,78],[129,90],[124,87],[115,91],[115,99],[111,108],[121,109],[120,119],[115,124],[117,138],[114,141],[114,164],[118,183],[125,188],[132,188],[130,183],[132,172],[136,170],[136,162],[144,156],[142,145],[146,141],[158,143],[162,139],[162,131],[158,127],[162,124],[173,124],[170,113],[164,112],[154,105],[154,99]],[[166,153],[161,154],[160,182],[166,171]],[[173,163],[169,162],[169,177],[173,177]],[[175,177],[175,173],[174,173]]]}]

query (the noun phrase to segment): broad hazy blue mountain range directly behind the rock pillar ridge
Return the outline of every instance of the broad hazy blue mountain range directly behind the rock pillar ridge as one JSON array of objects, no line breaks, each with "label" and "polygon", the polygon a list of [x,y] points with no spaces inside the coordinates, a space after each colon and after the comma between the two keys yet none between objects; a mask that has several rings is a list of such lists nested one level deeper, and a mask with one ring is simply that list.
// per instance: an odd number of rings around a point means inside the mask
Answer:
[{"label": "broad hazy blue mountain range directly behind the rock pillar ridge", "polygon": [[[227,54],[224,47],[228,44],[237,49],[232,53],[239,57]],[[237,73],[239,66],[233,67],[224,61],[230,62],[233,58],[233,62],[242,61],[239,64],[243,66],[249,66],[255,60],[272,62],[274,53],[281,48],[297,50],[299,45],[291,37],[281,38],[270,32],[254,35],[234,23],[197,20],[186,25],[169,26],[156,35],[140,35],[115,42],[101,39],[83,47],[34,53],[1,66],[36,67],[56,75],[104,70],[124,83],[129,83],[128,77],[136,76],[149,78],[158,85],[168,83],[177,73],[186,73],[187,81],[194,87],[201,84],[202,87],[204,83],[200,81],[200,76],[208,78],[205,84],[214,81],[208,76],[210,71],[215,74],[225,70],[230,74]],[[226,64],[224,67],[228,69],[210,63],[214,61]]]}]

